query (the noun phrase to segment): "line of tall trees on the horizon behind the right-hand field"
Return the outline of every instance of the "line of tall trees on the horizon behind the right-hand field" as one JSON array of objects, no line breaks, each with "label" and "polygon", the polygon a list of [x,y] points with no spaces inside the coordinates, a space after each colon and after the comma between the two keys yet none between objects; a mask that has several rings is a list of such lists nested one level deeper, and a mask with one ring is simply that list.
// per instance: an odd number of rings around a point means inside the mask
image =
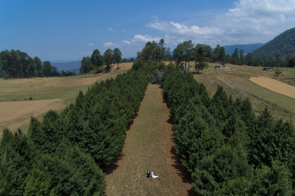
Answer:
[{"label": "line of tall trees on the horizon behind the right-hand field", "polygon": [[276,56],[263,55],[263,57],[254,58],[252,53],[244,53],[243,49],[235,48],[232,55],[226,54],[224,47],[217,45],[214,50],[206,44],[193,44],[192,40],[179,43],[171,55],[170,48],[166,48],[165,40],[161,39],[158,43],[147,42],[141,52],[137,52],[137,59],[143,62],[155,61],[175,61],[179,66],[190,68],[190,62],[194,61],[192,66],[198,72],[208,67],[207,62],[219,62],[224,65],[231,63],[234,65],[248,66],[268,66],[268,67],[295,67],[295,56],[291,54],[286,58],[281,57],[278,52]]}]

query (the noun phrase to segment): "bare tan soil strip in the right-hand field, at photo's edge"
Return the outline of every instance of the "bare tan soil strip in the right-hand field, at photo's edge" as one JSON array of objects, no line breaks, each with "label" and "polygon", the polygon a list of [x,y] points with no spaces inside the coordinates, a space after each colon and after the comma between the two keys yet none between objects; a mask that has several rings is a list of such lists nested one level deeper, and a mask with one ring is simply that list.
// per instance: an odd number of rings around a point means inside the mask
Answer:
[{"label": "bare tan soil strip in the right-hand field, at photo's edge", "polygon": [[295,87],[266,77],[251,77],[250,80],[264,88],[295,98]]}]

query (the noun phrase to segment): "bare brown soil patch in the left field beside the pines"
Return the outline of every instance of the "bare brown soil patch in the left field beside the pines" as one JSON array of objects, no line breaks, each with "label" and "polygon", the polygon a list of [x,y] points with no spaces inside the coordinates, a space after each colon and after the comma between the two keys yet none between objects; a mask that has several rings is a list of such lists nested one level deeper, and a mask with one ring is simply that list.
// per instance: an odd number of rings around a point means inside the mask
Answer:
[{"label": "bare brown soil patch in the left field beside the pines", "polygon": [[4,127],[11,131],[21,129],[30,123],[30,117],[47,112],[48,110],[60,110],[63,108],[62,99],[27,100],[27,101],[6,101],[0,102],[0,134]]}]

